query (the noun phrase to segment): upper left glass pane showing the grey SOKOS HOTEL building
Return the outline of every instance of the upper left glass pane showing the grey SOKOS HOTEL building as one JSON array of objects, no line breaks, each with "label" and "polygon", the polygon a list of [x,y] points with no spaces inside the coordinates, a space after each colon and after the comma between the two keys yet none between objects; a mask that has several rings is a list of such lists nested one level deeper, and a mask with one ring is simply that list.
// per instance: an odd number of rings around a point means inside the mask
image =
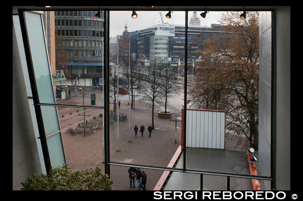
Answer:
[{"label": "upper left glass pane showing the grey SOKOS HOTEL building", "polygon": [[[85,11],[83,15],[87,16],[87,13],[97,13],[97,11]],[[55,19],[56,18],[58,17],[55,16]],[[83,25],[84,23],[91,23],[91,21],[93,21],[93,18],[80,16],[60,17],[62,20],[74,20],[74,23],[81,22],[79,18],[83,21]],[[95,20],[103,21],[104,18],[95,18]],[[95,46],[95,43],[92,44],[91,38],[87,36],[91,35],[92,31],[103,32],[104,27],[94,27],[90,28],[90,30],[85,30],[85,27],[79,24],[69,25],[70,33],[73,33],[73,36],[58,37],[55,44],[56,51],[62,53],[55,55],[56,61],[60,62],[56,62],[56,69],[53,69],[57,103],[93,106],[90,98],[91,94],[94,93],[96,94],[95,104],[102,105],[103,99],[100,98],[102,98],[103,93],[102,69],[104,67],[104,48],[103,46]],[[87,35],[87,33],[90,34]],[[70,41],[70,46],[60,46],[61,40]],[[76,43],[77,41],[79,42]],[[76,49],[75,46],[77,46]],[[89,69],[88,71],[85,70],[86,66],[87,69]],[[96,69],[101,70],[96,71]],[[69,93],[66,94],[66,91],[69,91]]]}]

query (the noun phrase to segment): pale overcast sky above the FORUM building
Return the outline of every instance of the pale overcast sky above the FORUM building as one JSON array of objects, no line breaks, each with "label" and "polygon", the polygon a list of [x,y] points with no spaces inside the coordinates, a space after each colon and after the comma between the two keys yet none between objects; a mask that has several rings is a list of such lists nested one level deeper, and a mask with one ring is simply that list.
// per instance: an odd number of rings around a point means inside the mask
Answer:
[{"label": "pale overcast sky above the FORUM building", "polygon": [[[175,11],[171,13],[172,18],[168,19],[165,15],[168,11],[136,11],[138,17],[131,18],[132,11],[111,11],[110,12],[110,37],[116,37],[124,31],[125,23],[129,32],[144,29],[157,24],[162,24],[160,13],[164,23],[185,25],[185,12]],[[219,24],[218,20],[221,14],[225,12],[212,11],[206,15],[206,18],[200,16],[204,11],[196,11],[201,26],[211,26],[211,24]],[[188,21],[192,17],[193,11],[188,12]]]}]

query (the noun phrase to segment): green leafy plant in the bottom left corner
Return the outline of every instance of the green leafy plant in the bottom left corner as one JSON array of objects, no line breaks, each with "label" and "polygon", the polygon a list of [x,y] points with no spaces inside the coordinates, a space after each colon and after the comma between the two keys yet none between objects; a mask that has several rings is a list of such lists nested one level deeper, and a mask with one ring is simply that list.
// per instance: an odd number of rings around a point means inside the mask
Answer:
[{"label": "green leafy plant in the bottom left corner", "polygon": [[113,180],[95,169],[73,171],[64,164],[49,171],[49,175],[32,174],[22,182],[21,190],[112,190]]}]

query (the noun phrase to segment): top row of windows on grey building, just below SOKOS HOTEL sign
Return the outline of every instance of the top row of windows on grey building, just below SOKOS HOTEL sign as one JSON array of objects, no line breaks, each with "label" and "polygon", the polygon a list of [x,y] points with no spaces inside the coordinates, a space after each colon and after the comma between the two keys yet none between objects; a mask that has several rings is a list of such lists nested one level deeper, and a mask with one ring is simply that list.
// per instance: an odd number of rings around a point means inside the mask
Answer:
[{"label": "top row of windows on grey building, just below SOKOS HOTEL sign", "polygon": [[55,20],[55,26],[78,26],[78,27],[97,27],[103,28],[103,21],[93,21],[93,20]]}]

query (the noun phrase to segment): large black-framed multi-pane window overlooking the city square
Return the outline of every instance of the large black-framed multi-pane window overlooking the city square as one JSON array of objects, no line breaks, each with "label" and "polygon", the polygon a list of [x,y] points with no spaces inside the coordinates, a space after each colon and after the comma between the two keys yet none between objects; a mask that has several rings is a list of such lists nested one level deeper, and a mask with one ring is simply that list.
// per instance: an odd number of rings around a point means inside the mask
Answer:
[{"label": "large black-framed multi-pane window overlooking the city square", "polygon": [[[57,32],[68,36],[56,43],[56,49],[66,52],[53,55],[61,64],[49,68],[52,73],[63,70],[65,76],[53,83],[56,102],[53,96],[47,99],[49,94],[39,95],[45,99],[40,103],[53,105],[41,108],[45,124],[56,128],[47,132],[60,130],[70,167],[100,165],[117,179],[117,190],[129,188],[118,178],[127,183],[132,166],[153,177],[149,189],[169,170],[163,189],[174,189],[178,177],[187,175],[203,183],[197,189],[252,190],[253,166],[261,188],[271,189],[272,131],[259,127],[264,108],[259,101],[264,100],[259,93],[262,12],[249,11],[241,19],[242,12],[209,11],[203,18],[204,11],[174,11],[168,19],[168,11],[136,11],[138,17],[132,19],[131,11],[110,11],[107,21],[104,11],[102,21],[78,21],[96,12],[57,12],[61,18],[69,14],[69,21],[58,20],[56,26],[97,26],[86,27],[81,36],[77,30]],[[107,23],[110,30],[101,27]],[[106,51],[111,51],[109,60]],[[43,93],[52,86],[41,76],[37,86]],[[271,93],[266,96],[271,99]],[[59,122],[47,119],[51,115],[58,115]],[[249,148],[254,152],[247,155]],[[254,157],[258,161],[250,161]]]}]

